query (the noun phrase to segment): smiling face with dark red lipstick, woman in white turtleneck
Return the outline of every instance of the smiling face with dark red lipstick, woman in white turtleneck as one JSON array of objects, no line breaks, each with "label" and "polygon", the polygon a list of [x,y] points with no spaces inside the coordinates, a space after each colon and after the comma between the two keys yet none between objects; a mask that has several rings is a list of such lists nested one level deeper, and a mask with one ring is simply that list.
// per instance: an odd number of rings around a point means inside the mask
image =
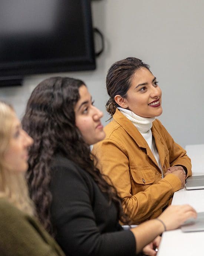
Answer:
[{"label": "smiling face with dark red lipstick, woman in white turtleneck", "polygon": [[161,94],[156,77],[147,68],[142,67],[135,72],[122,107],[129,108],[143,117],[160,116]]}]

